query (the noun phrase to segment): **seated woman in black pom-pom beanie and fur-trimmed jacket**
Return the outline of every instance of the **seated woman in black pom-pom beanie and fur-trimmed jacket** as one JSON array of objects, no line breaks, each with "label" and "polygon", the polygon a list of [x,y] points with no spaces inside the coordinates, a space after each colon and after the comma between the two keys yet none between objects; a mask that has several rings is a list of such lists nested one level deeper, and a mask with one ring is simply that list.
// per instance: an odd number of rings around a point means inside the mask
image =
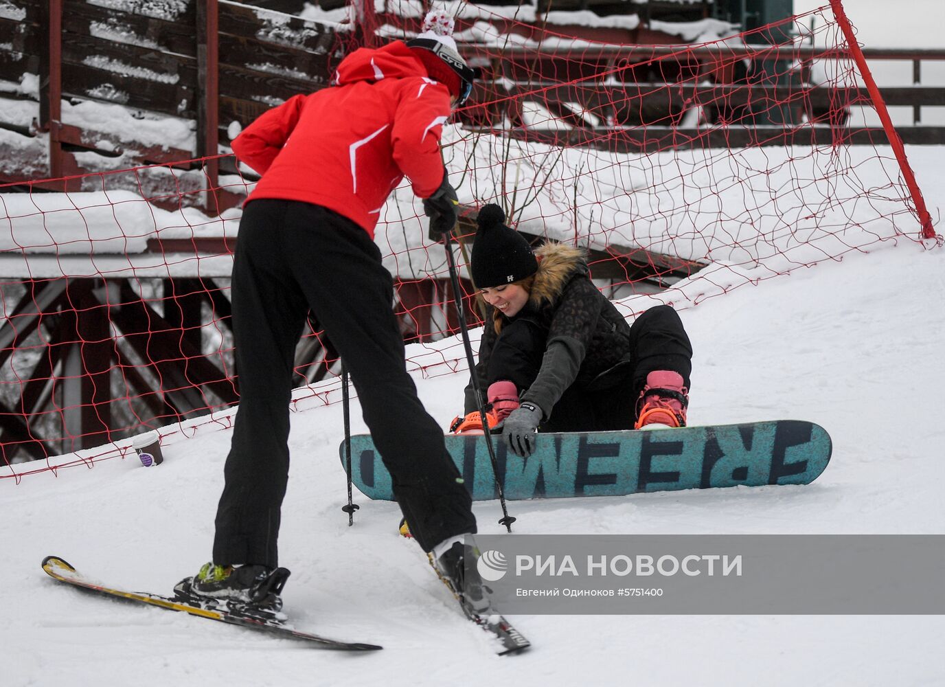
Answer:
[{"label": "seated woman in black pom-pom beanie and fur-trimmed jacket", "polygon": [[[488,425],[517,455],[535,433],[679,427],[686,423],[692,345],[676,311],[646,310],[632,325],[593,285],[580,249],[533,252],[498,205],[479,212],[472,281],[489,304],[475,374],[488,389]],[[472,381],[466,418],[482,430]]]}]

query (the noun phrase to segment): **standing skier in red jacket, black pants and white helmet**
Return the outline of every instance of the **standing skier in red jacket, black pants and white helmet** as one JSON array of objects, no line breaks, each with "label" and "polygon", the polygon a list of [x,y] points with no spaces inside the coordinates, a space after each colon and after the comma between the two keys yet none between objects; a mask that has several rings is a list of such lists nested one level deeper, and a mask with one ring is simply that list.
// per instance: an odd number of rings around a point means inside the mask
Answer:
[{"label": "standing skier in red jacket, black pants and white helmet", "polygon": [[[452,20],[449,21],[452,28]],[[311,309],[341,353],[364,419],[393,477],[404,517],[439,572],[469,601],[463,580],[476,531],[471,498],[406,372],[393,285],[372,237],[404,175],[431,230],[456,221],[456,194],[439,153],[442,125],[472,88],[448,34],[430,25],[408,43],[353,52],[332,87],[266,112],[232,143],[262,174],[240,222],[232,323],[240,404],[216,514],[213,561],[194,593],[269,607],[287,571],[277,538],[288,477],[293,357]]]}]

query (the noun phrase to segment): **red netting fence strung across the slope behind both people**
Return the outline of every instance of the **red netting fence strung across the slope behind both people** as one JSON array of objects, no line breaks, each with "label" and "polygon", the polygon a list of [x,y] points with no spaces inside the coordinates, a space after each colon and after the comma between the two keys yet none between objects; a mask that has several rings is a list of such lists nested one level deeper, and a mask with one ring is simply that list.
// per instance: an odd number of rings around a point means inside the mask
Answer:
[{"label": "red netting fence strung across the slope behind both people", "polygon": [[[900,149],[869,118],[882,107],[829,7],[727,38],[707,21],[687,37],[695,43],[672,45],[594,43],[547,15],[447,7],[460,51],[483,72],[443,136],[464,207],[460,265],[476,208],[498,202],[535,242],[588,249],[595,283],[631,317],[654,299],[682,309],[934,237]],[[402,8],[371,21],[381,42],[414,35],[420,16]],[[72,462],[90,463],[146,428],[229,426],[240,210],[228,199],[255,178],[235,165],[212,182],[207,163],[226,158],[0,187],[4,461],[78,451]],[[465,369],[461,343],[445,338],[456,333],[446,256],[406,182],[376,240],[404,338],[420,344],[408,367]],[[463,286],[478,322],[474,285]],[[294,404],[340,399],[336,358],[311,318]]]}]

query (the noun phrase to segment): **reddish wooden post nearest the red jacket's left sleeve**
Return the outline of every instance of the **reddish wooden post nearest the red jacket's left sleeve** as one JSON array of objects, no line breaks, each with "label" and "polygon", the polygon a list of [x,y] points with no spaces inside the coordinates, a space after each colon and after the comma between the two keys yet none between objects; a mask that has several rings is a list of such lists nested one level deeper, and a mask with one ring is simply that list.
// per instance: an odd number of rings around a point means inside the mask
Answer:
[{"label": "reddish wooden post nearest the red jacket's left sleeve", "polygon": [[219,7],[216,0],[197,3],[197,154],[213,157],[203,164],[207,176],[204,209],[207,215],[219,215],[216,188],[219,179],[217,146],[219,119]]}]

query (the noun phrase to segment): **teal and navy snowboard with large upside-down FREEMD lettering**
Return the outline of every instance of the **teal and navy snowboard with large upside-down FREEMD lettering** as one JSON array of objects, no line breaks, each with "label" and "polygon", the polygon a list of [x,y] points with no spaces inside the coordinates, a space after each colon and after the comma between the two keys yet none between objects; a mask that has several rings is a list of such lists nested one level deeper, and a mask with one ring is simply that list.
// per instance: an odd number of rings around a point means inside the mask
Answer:
[{"label": "teal and navy snowboard with large upside-down FREEMD lettering", "polygon": [[[832,443],[813,422],[745,424],[537,436],[522,458],[492,437],[507,499],[625,496],[650,491],[810,484]],[[447,435],[446,449],[475,501],[498,498],[483,435]],[[390,474],[370,435],[352,437],[352,482],[369,499],[393,501]],[[338,448],[341,465],[345,442]]]}]

